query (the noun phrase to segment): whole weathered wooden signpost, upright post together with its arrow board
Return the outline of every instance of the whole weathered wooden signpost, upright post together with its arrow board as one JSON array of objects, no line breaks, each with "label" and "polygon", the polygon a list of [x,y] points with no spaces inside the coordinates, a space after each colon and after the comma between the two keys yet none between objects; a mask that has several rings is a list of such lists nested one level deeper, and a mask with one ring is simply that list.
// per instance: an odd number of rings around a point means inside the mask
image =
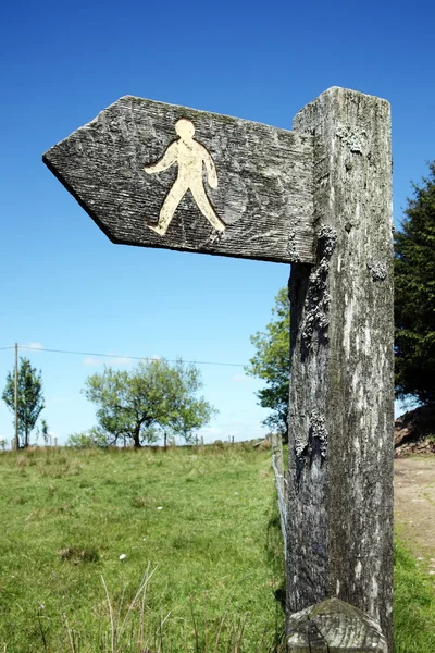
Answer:
[{"label": "whole weathered wooden signpost, upright post together with its arrow board", "polygon": [[391,653],[388,102],[287,132],[124,97],[44,161],[114,243],[291,263],[288,651]]}]

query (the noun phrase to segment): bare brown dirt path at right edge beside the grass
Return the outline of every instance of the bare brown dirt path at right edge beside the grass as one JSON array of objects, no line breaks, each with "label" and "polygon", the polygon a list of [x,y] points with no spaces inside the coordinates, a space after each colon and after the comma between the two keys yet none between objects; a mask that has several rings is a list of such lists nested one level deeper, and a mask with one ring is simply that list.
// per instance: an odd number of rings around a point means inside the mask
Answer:
[{"label": "bare brown dirt path at right edge beside the grass", "polygon": [[422,569],[435,576],[435,456],[396,458],[395,526]]}]

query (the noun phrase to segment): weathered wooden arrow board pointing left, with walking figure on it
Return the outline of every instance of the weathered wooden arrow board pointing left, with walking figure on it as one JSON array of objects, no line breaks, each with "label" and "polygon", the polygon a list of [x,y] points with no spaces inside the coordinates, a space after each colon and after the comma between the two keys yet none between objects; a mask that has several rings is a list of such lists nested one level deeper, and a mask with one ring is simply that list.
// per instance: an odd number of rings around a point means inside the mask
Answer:
[{"label": "weathered wooden arrow board pointing left, with walking figure on it", "polygon": [[124,97],[42,160],[113,243],[313,261],[310,135]]}]

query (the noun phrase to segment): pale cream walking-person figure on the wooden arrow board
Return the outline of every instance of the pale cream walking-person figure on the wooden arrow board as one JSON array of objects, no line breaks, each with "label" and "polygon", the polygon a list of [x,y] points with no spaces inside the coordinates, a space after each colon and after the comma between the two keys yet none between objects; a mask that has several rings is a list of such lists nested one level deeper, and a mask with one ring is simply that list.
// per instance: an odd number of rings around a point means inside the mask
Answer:
[{"label": "pale cream walking-person figure on the wooden arrow board", "polygon": [[158,224],[147,222],[147,226],[160,236],[163,236],[167,231],[177,206],[187,190],[190,190],[202,215],[207,218],[215,230],[223,232],[226,225],[210,204],[202,178],[202,167],[206,165],[209,185],[212,188],[217,187],[217,173],[214,161],[203,145],[195,140],[195,126],[192,122],[186,118],[181,118],[175,123],[175,132],[179,138],[169,146],[160,161],[144,168],[147,174],[154,174],[167,170],[174,163],[178,165],[177,178],[160,209]]}]

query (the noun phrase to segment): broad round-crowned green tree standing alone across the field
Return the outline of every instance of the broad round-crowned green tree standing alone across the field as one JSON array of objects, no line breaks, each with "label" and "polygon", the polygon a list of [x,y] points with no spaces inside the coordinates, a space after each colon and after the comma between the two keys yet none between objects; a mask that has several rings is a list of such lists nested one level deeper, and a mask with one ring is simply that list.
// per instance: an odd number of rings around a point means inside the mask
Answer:
[{"label": "broad round-crowned green tree standing alone across the field", "polygon": [[182,360],[140,361],[132,371],[104,367],[86,381],[85,396],[97,405],[100,438],[115,444],[121,438],[135,447],[171,435],[191,441],[195,430],[209,423],[216,410],[203,397],[199,370]]}]

